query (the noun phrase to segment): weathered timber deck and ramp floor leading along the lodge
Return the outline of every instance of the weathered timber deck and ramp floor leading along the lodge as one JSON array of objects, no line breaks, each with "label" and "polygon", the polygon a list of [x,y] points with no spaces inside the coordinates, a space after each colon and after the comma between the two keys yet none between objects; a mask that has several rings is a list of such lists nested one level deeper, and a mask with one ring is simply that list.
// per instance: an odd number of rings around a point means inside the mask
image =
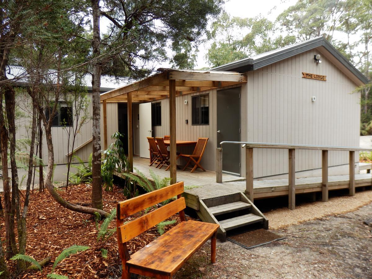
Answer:
[{"label": "weathered timber deck and ramp floor leading along the lodge", "polygon": [[[148,159],[134,158],[135,168],[150,177],[150,169],[160,177],[169,177],[170,172],[155,167],[148,166]],[[134,171],[135,172],[135,171]],[[177,181],[183,181],[185,186],[198,186],[192,189],[185,189],[186,205],[190,208],[199,210],[199,201],[215,199],[219,197],[234,195],[246,190],[244,177],[222,175],[223,183],[216,183],[216,173],[214,171],[196,170],[194,173],[189,171],[177,170]],[[306,177],[295,180],[296,194],[321,192],[321,177]],[[355,187],[371,186],[372,174],[355,174]],[[288,179],[266,179],[254,180],[254,199],[274,198],[288,195]],[[328,176],[328,189],[339,190],[349,188],[349,175]]]}]

